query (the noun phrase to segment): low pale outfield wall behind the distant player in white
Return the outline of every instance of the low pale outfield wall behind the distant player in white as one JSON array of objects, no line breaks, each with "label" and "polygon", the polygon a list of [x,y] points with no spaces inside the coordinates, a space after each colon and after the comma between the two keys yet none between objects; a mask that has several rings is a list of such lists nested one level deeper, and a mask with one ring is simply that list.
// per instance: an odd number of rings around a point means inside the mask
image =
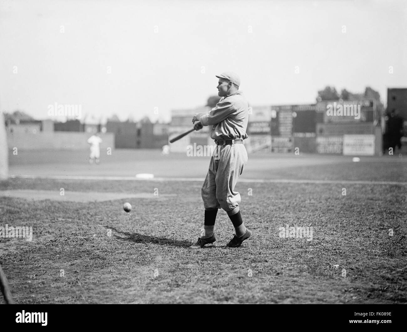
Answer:
[{"label": "low pale outfield wall behind the distant player in white", "polygon": [[[88,150],[87,132],[8,132],[7,146],[9,150]],[[101,149],[112,148],[114,150],[114,133],[100,134],[103,142]]]}]

